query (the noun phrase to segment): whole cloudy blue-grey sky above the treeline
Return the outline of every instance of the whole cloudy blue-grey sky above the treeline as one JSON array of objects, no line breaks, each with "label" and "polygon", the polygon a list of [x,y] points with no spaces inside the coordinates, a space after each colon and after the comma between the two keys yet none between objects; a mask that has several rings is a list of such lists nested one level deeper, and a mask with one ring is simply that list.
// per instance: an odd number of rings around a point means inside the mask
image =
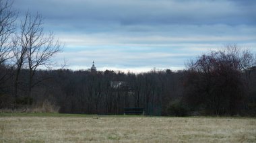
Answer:
[{"label": "whole cloudy blue-grey sky above the treeline", "polygon": [[64,44],[66,68],[146,72],[181,70],[210,50],[238,44],[256,52],[254,0],[15,0],[44,17],[44,32]]}]

